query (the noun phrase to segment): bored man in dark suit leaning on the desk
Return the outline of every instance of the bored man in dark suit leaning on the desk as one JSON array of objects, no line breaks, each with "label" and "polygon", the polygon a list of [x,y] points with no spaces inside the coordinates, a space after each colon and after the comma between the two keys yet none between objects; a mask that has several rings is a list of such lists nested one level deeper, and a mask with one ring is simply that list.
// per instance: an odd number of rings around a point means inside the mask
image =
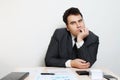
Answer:
[{"label": "bored man in dark suit leaning on the desk", "polygon": [[90,68],[96,61],[98,36],[85,27],[78,8],[66,10],[63,21],[66,28],[55,30],[46,53],[46,66]]}]

